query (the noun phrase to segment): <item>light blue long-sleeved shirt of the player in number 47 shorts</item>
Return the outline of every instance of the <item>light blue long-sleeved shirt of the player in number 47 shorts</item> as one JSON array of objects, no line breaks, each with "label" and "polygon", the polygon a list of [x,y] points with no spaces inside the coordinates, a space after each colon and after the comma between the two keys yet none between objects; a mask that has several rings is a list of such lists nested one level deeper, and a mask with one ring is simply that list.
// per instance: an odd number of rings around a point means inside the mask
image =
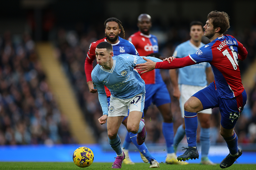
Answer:
[{"label": "light blue long-sleeved shirt of the player in number 47 shorts", "polygon": [[[113,67],[105,70],[97,64],[92,70],[93,88],[98,90],[99,101],[103,115],[108,115],[108,102],[104,85],[108,87],[111,95],[119,99],[131,99],[145,93],[145,82],[139,73],[133,70],[138,63],[146,63],[142,56],[121,54],[113,56]],[[146,57],[154,62],[162,60],[155,57]]]}]

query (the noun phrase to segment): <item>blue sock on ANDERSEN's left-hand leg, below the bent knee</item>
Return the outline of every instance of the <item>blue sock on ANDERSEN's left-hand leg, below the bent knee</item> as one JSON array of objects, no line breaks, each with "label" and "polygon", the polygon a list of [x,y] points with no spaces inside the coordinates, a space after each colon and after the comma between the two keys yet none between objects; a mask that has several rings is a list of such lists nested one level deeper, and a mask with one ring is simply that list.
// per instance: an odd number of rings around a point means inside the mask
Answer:
[{"label": "blue sock on ANDERSEN's left-hand leg, below the bent knee", "polygon": [[184,111],[185,131],[188,146],[196,146],[197,113]]}]

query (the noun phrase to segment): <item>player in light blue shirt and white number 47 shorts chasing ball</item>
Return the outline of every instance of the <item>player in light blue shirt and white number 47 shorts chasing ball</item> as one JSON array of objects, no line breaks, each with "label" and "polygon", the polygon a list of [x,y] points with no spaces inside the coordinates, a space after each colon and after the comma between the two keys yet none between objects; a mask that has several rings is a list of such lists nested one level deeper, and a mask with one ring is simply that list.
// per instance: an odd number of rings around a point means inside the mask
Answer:
[{"label": "player in light blue shirt and white number 47 shorts chasing ball", "polygon": [[[125,154],[121,149],[121,140],[118,129],[124,119],[127,118],[127,130],[137,133],[137,143],[142,145],[146,138],[145,121],[141,119],[144,109],[145,82],[140,78],[133,67],[136,63],[144,63],[141,56],[123,54],[113,56],[113,48],[109,42],[101,42],[95,49],[97,65],[92,70],[92,82],[97,89],[100,105],[103,111],[98,121],[100,124],[107,122],[108,141],[116,152],[116,160],[112,168],[121,168]],[[155,57],[146,57],[155,62],[162,60]],[[107,96],[104,85],[111,92],[110,105],[108,109]],[[149,161],[151,167],[159,167],[158,162],[151,156]]]}]

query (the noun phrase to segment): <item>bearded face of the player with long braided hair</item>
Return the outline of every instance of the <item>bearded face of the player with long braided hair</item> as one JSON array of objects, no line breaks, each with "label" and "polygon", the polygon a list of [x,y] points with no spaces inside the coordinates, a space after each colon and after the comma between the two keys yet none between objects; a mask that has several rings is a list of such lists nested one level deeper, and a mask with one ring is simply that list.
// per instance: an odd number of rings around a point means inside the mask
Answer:
[{"label": "bearded face of the player with long braided hair", "polygon": [[107,22],[105,29],[107,40],[110,43],[118,41],[118,35],[121,33],[118,24],[115,21]]}]

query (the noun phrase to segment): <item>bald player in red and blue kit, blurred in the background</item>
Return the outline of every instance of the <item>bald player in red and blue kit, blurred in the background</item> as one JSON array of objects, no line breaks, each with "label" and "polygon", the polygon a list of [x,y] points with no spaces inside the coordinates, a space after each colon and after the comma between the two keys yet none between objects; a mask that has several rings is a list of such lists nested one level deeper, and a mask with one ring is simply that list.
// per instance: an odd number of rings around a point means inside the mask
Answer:
[{"label": "bald player in red and blue kit, blurred in the background", "polygon": [[[156,55],[156,53],[158,53],[158,41],[155,35],[149,33],[152,26],[151,17],[148,14],[140,14],[137,26],[139,27],[139,31],[131,35],[128,40],[133,43],[140,56]],[[164,118],[162,129],[167,145],[167,157],[165,162],[167,164],[188,164],[187,162],[179,162],[174,153],[171,98],[162,79],[160,70],[149,71],[146,74],[142,74],[141,78],[145,81],[147,92],[145,96],[144,114],[146,114],[148,107],[153,103]],[[125,141],[123,148],[127,149],[128,147],[129,143]]]}]

